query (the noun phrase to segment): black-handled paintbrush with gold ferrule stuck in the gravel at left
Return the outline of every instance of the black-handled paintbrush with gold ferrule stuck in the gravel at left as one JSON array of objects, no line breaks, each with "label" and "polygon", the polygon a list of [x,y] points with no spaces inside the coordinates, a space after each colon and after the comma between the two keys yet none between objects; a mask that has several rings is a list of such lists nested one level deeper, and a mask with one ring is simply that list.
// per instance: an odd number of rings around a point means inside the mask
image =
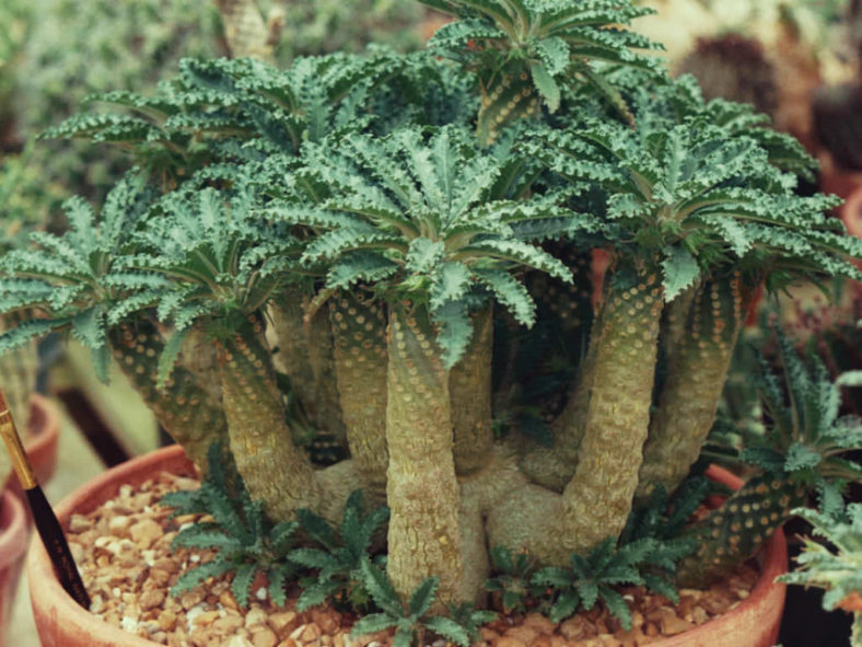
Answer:
[{"label": "black-handled paintbrush with gold ferrule stuck in the gravel at left", "polygon": [[42,492],[33,466],[30,464],[2,390],[0,390],[0,436],[3,437],[3,442],[12,459],[15,474],[21,482],[21,487],[27,495],[27,502],[33,512],[36,530],[42,538],[42,543],[45,544],[45,550],[48,552],[51,564],[54,564],[60,585],[75,602],[89,610],[90,596],[86,593],[84,582],[78,573],[78,567],[72,558],[72,553],[69,551],[69,544],[66,542],[60,522],[54,513],[48,499],[45,498],[45,493]]}]

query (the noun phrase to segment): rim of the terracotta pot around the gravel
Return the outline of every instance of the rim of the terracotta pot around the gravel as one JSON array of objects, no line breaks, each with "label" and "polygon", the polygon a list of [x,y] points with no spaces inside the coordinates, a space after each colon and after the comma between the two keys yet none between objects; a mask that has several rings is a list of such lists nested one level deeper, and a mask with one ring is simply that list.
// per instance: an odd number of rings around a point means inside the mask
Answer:
[{"label": "rim of the terracotta pot around the gravel", "polygon": [[[180,446],[159,449],[100,474],[94,480],[91,480],[82,487],[63,497],[55,507],[55,512],[63,528],[67,528],[72,512],[86,513],[115,496],[120,485],[127,483],[142,483],[152,477],[155,471],[162,470],[180,474],[193,474],[195,467],[191,461],[186,458]],[[738,488],[743,483],[738,476],[715,465],[710,466],[707,471],[707,475],[732,488]],[[787,543],[784,541],[784,533],[780,528],[765,544],[760,554],[764,555],[760,578],[750,594],[737,606],[683,634],[668,637],[662,642],[656,642],[654,643],[655,647],[695,645],[697,643],[692,640],[697,640],[698,636],[713,634],[722,626],[733,626],[736,617],[752,613],[758,603],[766,601],[768,597],[780,594],[783,604],[787,587],[781,582],[774,581],[776,577],[787,570],[788,564]],[[50,613],[55,621],[58,617],[67,617],[70,623],[84,628],[90,634],[100,635],[105,639],[124,645],[124,647],[152,647],[156,644],[98,620],[95,615],[79,606],[74,600],[66,593],[54,575],[54,569],[48,561],[47,553],[37,535],[34,536],[33,544],[27,555],[26,569],[31,601],[35,615],[38,616],[39,614],[35,598],[37,596],[42,599],[50,598],[51,602],[46,604],[46,606],[53,606]],[[38,582],[38,585],[35,582]]]}]

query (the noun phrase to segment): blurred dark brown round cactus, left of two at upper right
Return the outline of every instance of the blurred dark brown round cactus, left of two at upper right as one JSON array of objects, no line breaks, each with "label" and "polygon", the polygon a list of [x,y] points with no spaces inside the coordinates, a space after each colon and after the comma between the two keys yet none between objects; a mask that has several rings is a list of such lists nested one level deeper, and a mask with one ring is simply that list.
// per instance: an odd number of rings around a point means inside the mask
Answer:
[{"label": "blurred dark brown round cactus, left of two at upper right", "polygon": [[750,103],[757,112],[774,115],[776,72],[754,38],[739,34],[698,38],[676,71],[694,74],[708,100]]}]

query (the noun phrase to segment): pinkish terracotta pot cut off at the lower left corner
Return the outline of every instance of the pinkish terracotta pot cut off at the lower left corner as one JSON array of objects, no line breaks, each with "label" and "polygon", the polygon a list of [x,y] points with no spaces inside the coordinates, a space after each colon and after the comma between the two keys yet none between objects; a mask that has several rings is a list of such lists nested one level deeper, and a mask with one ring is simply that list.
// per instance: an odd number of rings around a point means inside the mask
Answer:
[{"label": "pinkish terracotta pot cut off at the lower left corner", "polygon": [[0,647],[7,644],[9,611],[15,598],[26,547],[27,517],[24,506],[11,492],[0,493]]}]

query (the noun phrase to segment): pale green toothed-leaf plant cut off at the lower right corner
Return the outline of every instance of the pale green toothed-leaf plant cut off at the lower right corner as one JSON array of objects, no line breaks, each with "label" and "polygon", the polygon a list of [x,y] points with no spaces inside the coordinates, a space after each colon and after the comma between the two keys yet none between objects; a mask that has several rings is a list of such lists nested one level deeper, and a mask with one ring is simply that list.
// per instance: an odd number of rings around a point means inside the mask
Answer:
[{"label": "pale green toothed-leaf plant cut off at the lower right corner", "polygon": [[852,645],[862,644],[862,504],[849,504],[837,510],[797,508],[794,515],[812,524],[813,534],[828,542],[804,538],[802,553],[792,573],[779,580],[789,585],[825,589],[823,608],[844,608],[853,612]]}]

